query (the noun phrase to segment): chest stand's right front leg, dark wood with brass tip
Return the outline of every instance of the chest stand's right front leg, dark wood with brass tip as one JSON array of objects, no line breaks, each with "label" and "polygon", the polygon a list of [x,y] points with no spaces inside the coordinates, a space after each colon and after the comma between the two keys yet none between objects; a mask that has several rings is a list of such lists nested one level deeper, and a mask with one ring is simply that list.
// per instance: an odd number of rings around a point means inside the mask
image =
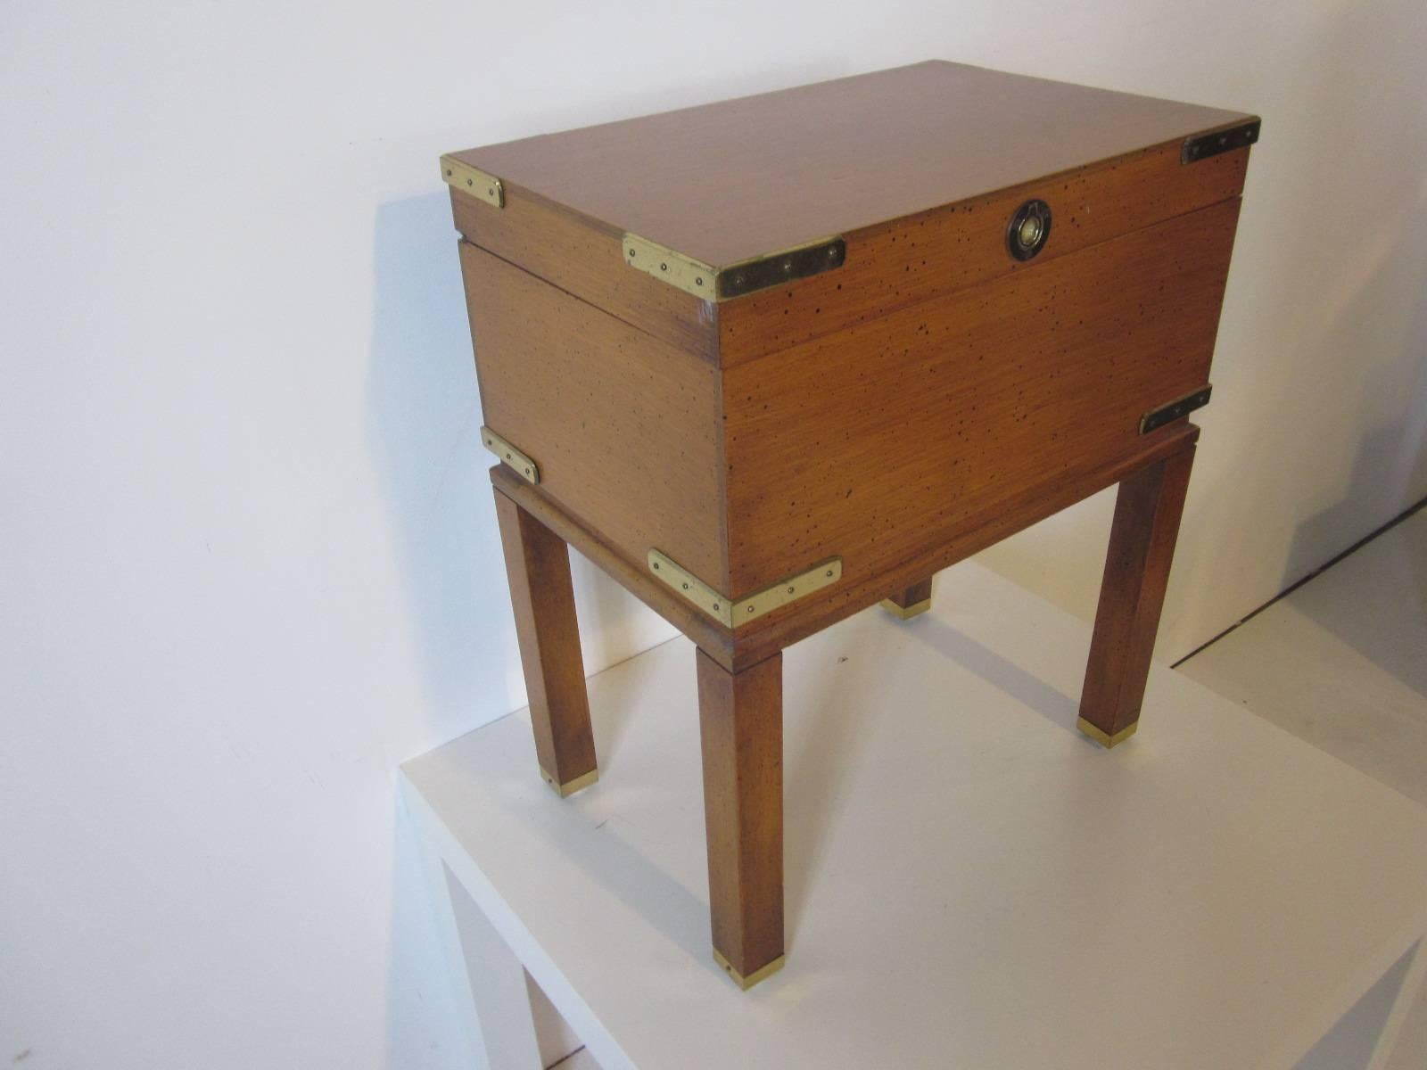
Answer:
[{"label": "chest stand's right front leg, dark wood with brass tip", "polygon": [[1120,482],[1079,720],[1107,748],[1139,725],[1193,462],[1189,447]]}]

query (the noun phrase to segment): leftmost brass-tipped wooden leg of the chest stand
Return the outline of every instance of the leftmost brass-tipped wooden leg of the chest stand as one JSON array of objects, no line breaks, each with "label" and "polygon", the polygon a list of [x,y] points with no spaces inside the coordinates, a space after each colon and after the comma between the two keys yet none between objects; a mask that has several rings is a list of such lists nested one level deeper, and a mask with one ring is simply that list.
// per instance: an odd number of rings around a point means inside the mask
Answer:
[{"label": "leftmost brass-tipped wooden leg of the chest stand", "polygon": [[535,758],[545,782],[561,796],[572,795],[598,780],[599,769],[569,582],[569,549],[499,491],[495,514],[535,728]]}]

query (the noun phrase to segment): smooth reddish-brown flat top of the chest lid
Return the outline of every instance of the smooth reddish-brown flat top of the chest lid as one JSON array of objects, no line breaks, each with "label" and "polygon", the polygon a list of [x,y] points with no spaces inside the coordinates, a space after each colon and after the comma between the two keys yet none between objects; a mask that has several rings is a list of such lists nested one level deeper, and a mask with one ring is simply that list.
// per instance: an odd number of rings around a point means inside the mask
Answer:
[{"label": "smooth reddish-brown flat top of the chest lid", "polygon": [[932,60],[452,156],[735,264],[1249,118]]}]

